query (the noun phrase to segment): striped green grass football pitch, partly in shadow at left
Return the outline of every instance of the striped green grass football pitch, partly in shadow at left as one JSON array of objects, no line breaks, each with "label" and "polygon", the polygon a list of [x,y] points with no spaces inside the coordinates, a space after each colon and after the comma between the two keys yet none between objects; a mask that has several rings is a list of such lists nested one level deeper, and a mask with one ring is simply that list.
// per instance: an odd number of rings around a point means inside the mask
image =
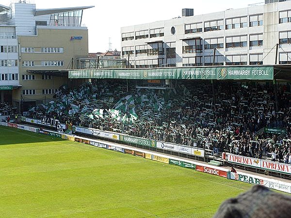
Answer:
[{"label": "striped green grass football pitch, partly in shadow at left", "polygon": [[250,184],[0,127],[1,217],[209,218]]}]

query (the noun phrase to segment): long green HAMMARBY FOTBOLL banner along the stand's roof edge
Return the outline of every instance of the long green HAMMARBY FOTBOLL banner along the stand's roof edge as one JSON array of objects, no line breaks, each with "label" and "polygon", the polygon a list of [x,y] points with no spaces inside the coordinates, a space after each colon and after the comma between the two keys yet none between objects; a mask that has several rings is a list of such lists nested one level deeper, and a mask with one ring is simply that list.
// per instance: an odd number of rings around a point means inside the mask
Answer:
[{"label": "long green HAMMARBY FOTBOLL banner along the stand's roof edge", "polygon": [[69,78],[272,80],[273,66],[69,70]]}]

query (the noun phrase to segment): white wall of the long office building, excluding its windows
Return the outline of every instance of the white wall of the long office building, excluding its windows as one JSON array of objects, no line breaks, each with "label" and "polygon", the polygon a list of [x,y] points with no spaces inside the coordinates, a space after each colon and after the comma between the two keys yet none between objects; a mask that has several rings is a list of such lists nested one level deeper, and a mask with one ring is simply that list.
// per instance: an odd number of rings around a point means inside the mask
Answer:
[{"label": "white wall of the long office building, excluding its windows", "polygon": [[[271,4],[250,6],[248,8],[242,9],[232,9],[226,10],[224,12],[216,12],[206,15],[197,15],[197,16],[188,16],[175,18],[164,21],[157,21],[154,23],[147,23],[129,27],[122,27],[121,34],[124,32],[132,31],[141,31],[141,30],[150,30],[155,28],[164,28],[164,36],[138,39],[138,40],[129,40],[121,41],[121,47],[137,46],[137,45],[146,45],[146,42],[162,40],[165,44],[168,42],[176,43],[176,66],[182,66],[183,58],[186,57],[195,57],[195,56],[210,56],[213,55],[213,49],[204,49],[205,39],[210,38],[224,38],[224,48],[216,50],[216,55],[247,55],[247,64],[249,64],[250,54],[262,54],[264,57],[263,64],[275,64],[275,45],[279,43],[279,32],[280,31],[291,31],[291,22],[290,23],[281,23],[279,24],[279,11],[291,10],[291,1],[284,2],[275,2]],[[250,27],[250,16],[263,14],[263,26]],[[229,29],[226,30],[226,19],[247,16],[247,27]],[[204,31],[204,24],[206,21],[223,19],[223,30],[218,31]],[[202,32],[199,33],[188,33],[185,34],[185,24],[198,23],[202,22]],[[175,27],[176,33],[171,34],[171,28]],[[263,34],[263,46],[259,47],[250,47],[249,37],[252,34]],[[226,48],[226,37],[228,36],[238,36],[246,35],[247,36],[247,47],[235,47],[235,48]],[[203,43],[203,52],[202,53],[182,53],[183,40],[185,38],[191,37],[201,37]],[[164,46],[165,47],[165,46]],[[278,53],[280,52],[291,52],[291,44],[280,45]],[[266,57],[265,57],[266,56]],[[124,56],[127,58],[127,56]],[[153,56],[144,56],[136,57],[135,54],[130,55],[130,60],[147,60],[152,59]],[[165,55],[162,57],[163,63],[165,63]],[[279,63],[279,55],[278,61]],[[224,63],[226,64],[226,63]]]}]

